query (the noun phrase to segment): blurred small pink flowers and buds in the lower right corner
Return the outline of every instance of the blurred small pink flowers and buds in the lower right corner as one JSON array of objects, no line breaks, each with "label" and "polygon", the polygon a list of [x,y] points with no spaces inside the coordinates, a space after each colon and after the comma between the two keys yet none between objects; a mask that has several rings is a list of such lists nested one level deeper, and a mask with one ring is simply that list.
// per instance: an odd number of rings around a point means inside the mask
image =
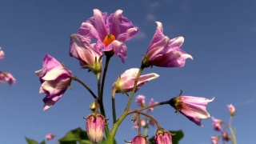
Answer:
[{"label": "blurred small pink flowers and buds in the lower right corner", "polygon": [[[233,118],[234,114],[235,114],[235,108],[232,104],[228,105],[227,106],[229,111],[230,111],[230,118]],[[217,118],[214,118],[212,117],[212,120],[213,120],[213,127],[214,127],[214,130],[218,131],[221,133],[220,136],[214,136],[214,137],[211,137],[211,142],[213,144],[218,144],[219,142],[219,139],[222,138],[222,141],[223,142],[230,142],[230,141],[235,141],[235,135],[234,135],[234,132],[232,130],[232,127],[231,127],[231,124],[226,124],[226,122],[223,122],[222,120],[220,119],[217,119]],[[231,119],[230,119],[231,120]],[[231,121],[230,121],[231,122]],[[230,132],[231,132],[231,135],[233,137],[230,138],[230,135],[227,134],[226,130],[222,130],[222,125],[225,125],[226,128],[229,128],[230,129]]]}]

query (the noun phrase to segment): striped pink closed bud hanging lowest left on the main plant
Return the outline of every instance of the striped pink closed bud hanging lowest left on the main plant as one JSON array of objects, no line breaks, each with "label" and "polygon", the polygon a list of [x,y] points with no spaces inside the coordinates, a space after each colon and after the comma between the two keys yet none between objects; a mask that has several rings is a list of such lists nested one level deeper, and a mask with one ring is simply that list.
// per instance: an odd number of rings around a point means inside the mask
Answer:
[{"label": "striped pink closed bud hanging lowest left on the main plant", "polygon": [[102,142],[104,126],[105,118],[98,112],[94,112],[86,118],[87,135],[91,142]]}]

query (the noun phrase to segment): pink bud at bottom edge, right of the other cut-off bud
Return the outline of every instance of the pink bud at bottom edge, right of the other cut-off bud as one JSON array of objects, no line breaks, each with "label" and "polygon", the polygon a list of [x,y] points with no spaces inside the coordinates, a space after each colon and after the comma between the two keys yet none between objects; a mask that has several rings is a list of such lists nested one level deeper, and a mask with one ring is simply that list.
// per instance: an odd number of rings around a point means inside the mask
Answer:
[{"label": "pink bud at bottom edge, right of the other cut-off bud", "polygon": [[154,142],[156,144],[172,144],[172,138],[167,130],[159,128],[154,136]]}]

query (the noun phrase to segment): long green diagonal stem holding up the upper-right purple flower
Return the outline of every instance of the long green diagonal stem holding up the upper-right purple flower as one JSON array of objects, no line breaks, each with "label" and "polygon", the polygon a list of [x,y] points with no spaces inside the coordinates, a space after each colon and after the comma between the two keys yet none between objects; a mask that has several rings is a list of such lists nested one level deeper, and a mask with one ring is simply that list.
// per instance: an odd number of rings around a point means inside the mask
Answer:
[{"label": "long green diagonal stem holding up the upper-right purple flower", "polygon": [[120,118],[118,118],[118,121],[114,123],[113,127],[112,127],[112,130],[111,130],[111,135],[110,135],[110,138],[107,139],[107,143],[108,144],[112,144],[114,142],[114,136],[115,134],[117,133],[117,130],[118,130],[118,126],[120,126],[120,124],[122,123],[122,121],[126,118],[127,116],[127,112],[130,108],[130,104],[134,98],[134,94],[135,94],[135,91],[137,89],[137,83],[138,83],[138,78],[139,76],[142,74],[142,70],[144,69],[144,66],[142,65],[141,68],[138,70],[138,74],[137,74],[137,77],[135,79],[135,82],[134,82],[134,89],[132,90],[131,94],[130,94],[130,98],[129,98],[129,101],[127,102],[127,105],[126,105],[126,110],[122,113],[122,115],[120,116]]}]

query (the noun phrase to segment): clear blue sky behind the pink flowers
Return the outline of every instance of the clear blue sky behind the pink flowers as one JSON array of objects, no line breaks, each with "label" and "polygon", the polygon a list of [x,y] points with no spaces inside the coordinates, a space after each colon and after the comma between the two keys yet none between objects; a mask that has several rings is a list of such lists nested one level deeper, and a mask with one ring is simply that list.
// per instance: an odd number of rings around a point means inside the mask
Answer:
[{"label": "clear blue sky behind the pink flowers", "polygon": [[[77,82],[46,112],[42,111],[42,98],[38,94],[40,82],[35,70],[42,68],[42,58],[50,54],[66,68],[81,78],[96,92],[96,77],[86,70],[79,70],[78,61],[70,58],[70,34],[77,32],[81,23],[93,15],[93,9],[108,14],[123,10],[139,27],[138,35],[126,42],[128,58],[122,64],[119,58],[111,59],[106,78],[105,106],[111,118],[111,87],[118,74],[131,67],[139,67],[141,54],[156,29],[155,21],[162,22],[164,34],[170,38],[183,36],[182,46],[194,60],[187,60],[182,68],[146,69],[143,74],[155,72],[160,77],[146,83],[137,92],[146,96],[146,102],[154,98],[158,102],[173,98],[183,90],[184,95],[205,98],[215,97],[207,110],[214,118],[229,120],[227,104],[234,104],[237,115],[233,125],[238,143],[254,143],[256,128],[256,1],[33,1],[8,0],[0,5],[0,46],[6,58],[0,61],[1,70],[10,71],[17,83],[1,85],[0,90],[0,143],[26,143],[24,136],[42,141],[53,132],[58,138],[68,130],[81,126],[83,116],[90,114],[90,102],[94,99]],[[128,98],[117,94],[118,116],[124,110]],[[133,100],[131,108],[137,108]],[[181,144],[210,143],[214,132],[211,119],[202,120],[203,128],[196,126],[183,115],[174,114],[170,106],[160,106],[154,116],[167,130],[183,130]],[[130,140],[137,131],[132,130],[128,116],[118,130],[118,143]],[[149,135],[153,135],[151,128]],[[54,143],[55,141],[49,142]]]}]

